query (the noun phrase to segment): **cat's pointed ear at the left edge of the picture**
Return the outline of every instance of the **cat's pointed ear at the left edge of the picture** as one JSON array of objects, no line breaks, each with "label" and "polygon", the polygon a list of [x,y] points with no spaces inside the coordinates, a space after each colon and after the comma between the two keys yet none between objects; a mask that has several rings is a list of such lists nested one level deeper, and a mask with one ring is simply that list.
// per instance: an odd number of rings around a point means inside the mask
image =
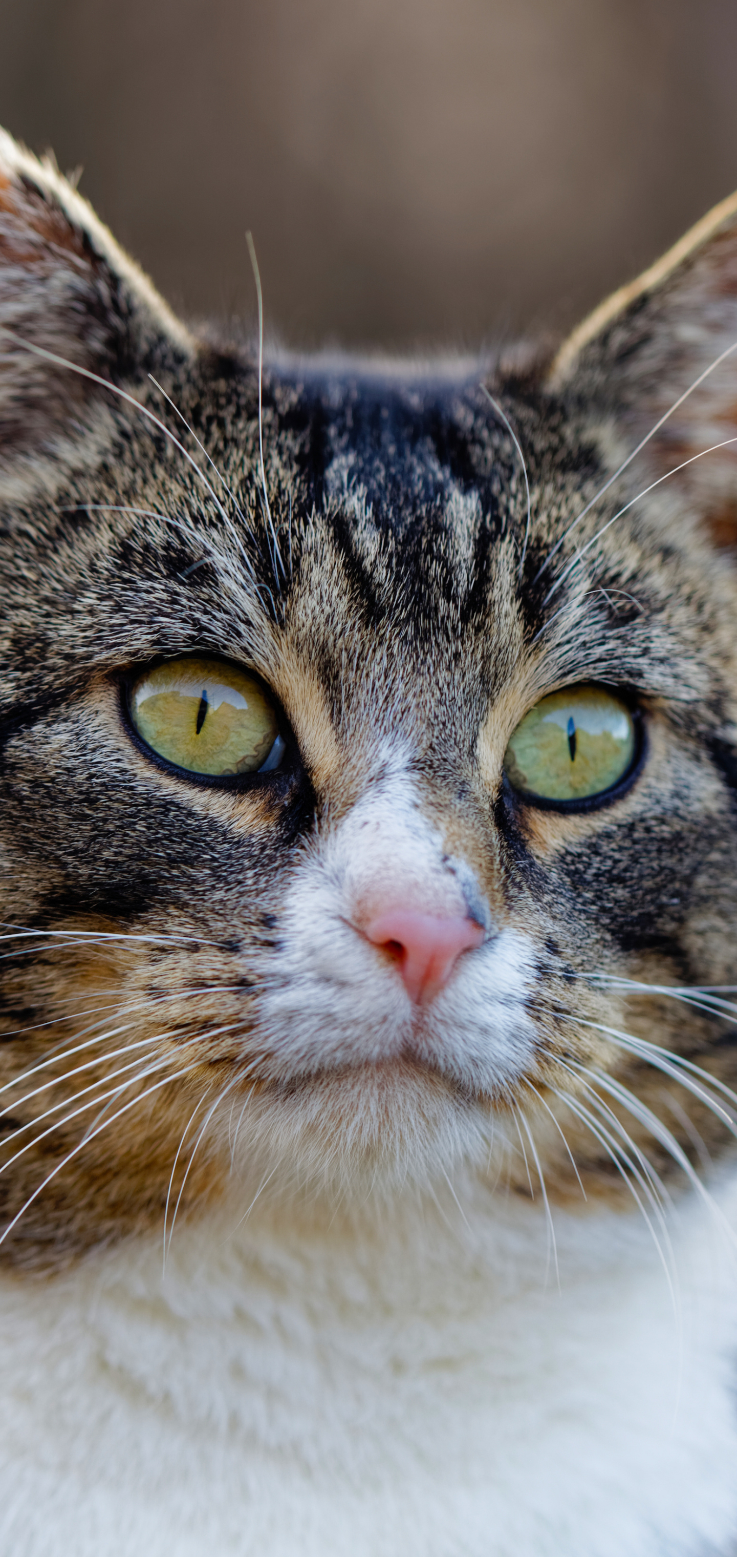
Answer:
[{"label": "cat's pointed ear at the left edge of the picture", "polygon": [[193,350],[183,325],[53,162],[0,131],[0,466],[58,455],[104,389]]}]

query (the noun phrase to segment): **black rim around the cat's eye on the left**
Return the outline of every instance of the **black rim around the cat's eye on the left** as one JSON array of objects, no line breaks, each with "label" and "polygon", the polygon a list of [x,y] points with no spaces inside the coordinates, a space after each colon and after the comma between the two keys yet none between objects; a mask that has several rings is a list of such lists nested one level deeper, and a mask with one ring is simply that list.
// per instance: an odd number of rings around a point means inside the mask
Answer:
[{"label": "black rim around the cat's eye on the left", "polygon": [[[169,763],[166,757],[160,757],[159,752],[154,752],[154,747],[149,746],[148,741],[145,741],[138,733],[131,708],[131,698],[135,684],[140,682],[141,676],[148,676],[151,671],[159,670],[160,665],[173,665],[174,660],[197,659],[213,660],[216,665],[222,665],[225,670],[238,671],[241,676],[252,676],[261,688],[264,698],[269,699],[274,708],[277,716],[277,732],[285,743],[285,755],[278,768],[274,768],[271,772],[257,771],[252,774],[197,774],[191,768],[180,768],[177,763]],[[302,771],[299,746],[285,710],[274,690],[263,679],[263,676],[253,670],[252,665],[239,665],[236,660],[229,660],[224,654],[216,654],[211,649],[204,648],[185,649],[182,654],[157,654],[151,660],[129,665],[124,671],[121,671],[118,676],[118,691],[120,715],[127,738],[141,757],[146,757],[146,760],[152,763],[154,768],[159,768],[160,772],[169,774],[171,778],[179,778],[182,783],[194,785],[197,789],[225,789],[230,794],[246,794],[253,789],[291,789],[294,778]]]}]

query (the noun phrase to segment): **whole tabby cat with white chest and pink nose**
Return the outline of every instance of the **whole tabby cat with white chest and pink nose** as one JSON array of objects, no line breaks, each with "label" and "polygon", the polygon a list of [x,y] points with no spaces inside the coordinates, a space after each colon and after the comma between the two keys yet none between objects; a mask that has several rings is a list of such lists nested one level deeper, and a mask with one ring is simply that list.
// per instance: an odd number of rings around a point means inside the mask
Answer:
[{"label": "whole tabby cat with white chest and pink nose", "polygon": [[737,198],[194,336],[0,139],[3,1557],[737,1538]]}]

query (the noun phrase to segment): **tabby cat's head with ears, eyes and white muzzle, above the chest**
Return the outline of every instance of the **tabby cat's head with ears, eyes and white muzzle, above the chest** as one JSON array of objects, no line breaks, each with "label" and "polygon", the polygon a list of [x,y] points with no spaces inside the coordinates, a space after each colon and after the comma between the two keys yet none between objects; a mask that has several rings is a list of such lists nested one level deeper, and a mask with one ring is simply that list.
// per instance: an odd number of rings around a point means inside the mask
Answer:
[{"label": "tabby cat's head with ears, eyes and white muzzle, above the chest", "polygon": [[725,1148],[735,210],[552,363],[274,358],[260,417],[0,140],[5,1255],[233,1165],[591,1204]]}]

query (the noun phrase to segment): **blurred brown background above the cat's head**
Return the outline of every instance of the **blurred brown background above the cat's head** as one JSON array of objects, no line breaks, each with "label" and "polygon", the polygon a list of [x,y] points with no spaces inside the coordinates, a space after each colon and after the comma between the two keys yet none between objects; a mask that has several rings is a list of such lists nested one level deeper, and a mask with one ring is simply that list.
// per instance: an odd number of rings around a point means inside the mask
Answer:
[{"label": "blurred brown background above the cat's head", "polygon": [[564,330],[737,187],[735,0],[0,0],[0,123],[187,316]]}]

